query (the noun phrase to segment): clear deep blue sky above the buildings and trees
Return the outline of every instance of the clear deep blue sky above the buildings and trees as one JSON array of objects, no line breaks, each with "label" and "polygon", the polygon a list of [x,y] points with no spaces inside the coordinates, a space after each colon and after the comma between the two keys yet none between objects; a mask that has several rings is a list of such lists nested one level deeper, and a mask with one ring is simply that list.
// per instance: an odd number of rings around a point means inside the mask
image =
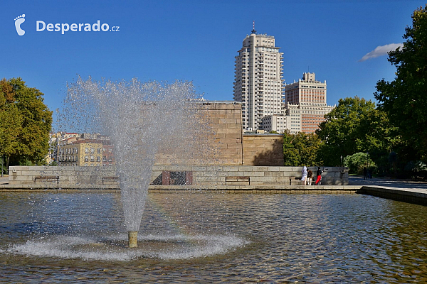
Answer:
[{"label": "clear deep blue sky above the buildings and trees", "polygon": [[[205,99],[233,99],[234,56],[251,33],[275,36],[283,77],[327,81],[327,103],[374,100],[378,80],[394,79],[387,56],[360,61],[378,46],[402,43],[422,1],[1,1],[0,77],[22,77],[55,110],[67,82],[189,80]],[[15,18],[25,14],[16,32]],[[46,23],[107,23],[118,32],[36,31]],[[384,49],[384,48],[383,48]],[[377,50],[381,50],[378,48]],[[371,53],[372,54],[372,53]]]}]

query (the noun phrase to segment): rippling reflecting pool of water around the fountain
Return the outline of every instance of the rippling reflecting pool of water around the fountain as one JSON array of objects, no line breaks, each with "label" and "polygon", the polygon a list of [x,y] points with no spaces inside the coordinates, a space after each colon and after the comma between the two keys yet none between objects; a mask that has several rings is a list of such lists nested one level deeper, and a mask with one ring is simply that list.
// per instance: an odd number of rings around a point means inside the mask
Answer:
[{"label": "rippling reflecting pool of water around the fountain", "polygon": [[423,283],[427,207],[366,195],[0,192],[0,283]]}]

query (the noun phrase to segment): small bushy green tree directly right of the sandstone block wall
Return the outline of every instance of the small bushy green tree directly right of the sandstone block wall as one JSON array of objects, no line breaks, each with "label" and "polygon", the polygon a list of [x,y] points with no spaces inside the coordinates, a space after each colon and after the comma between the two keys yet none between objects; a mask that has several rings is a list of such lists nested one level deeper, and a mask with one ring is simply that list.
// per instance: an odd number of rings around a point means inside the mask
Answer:
[{"label": "small bushy green tree directly right of the sandstone block wall", "polygon": [[289,131],[283,133],[283,158],[286,166],[314,166],[319,165],[317,151],[320,139],[316,134],[306,134],[298,132],[290,134]]}]

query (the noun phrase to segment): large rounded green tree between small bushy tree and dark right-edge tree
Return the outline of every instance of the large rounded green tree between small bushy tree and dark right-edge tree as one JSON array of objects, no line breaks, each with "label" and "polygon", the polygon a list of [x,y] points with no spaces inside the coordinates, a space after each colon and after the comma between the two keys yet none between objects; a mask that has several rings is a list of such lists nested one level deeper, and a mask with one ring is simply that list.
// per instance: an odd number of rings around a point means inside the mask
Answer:
[{"label": "large rounded green tree between small bushy tree and dark right-edge tree", "polygon": [[369,152],[374,160],[380,159],[399,138],[387,115],[370,100],[359,97],[339,99],[319,128],[320,158],[325,165],[341,165],[341,156],[357,152]]}]

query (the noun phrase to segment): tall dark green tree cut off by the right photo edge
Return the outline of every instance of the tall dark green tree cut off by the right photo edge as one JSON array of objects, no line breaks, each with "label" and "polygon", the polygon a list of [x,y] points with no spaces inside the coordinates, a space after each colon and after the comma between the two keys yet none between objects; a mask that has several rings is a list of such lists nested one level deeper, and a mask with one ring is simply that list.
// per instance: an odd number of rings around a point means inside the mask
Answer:
[{"label": "tall dark green tree cut off by the right photo edge", "polygon": [[[392,82],[376,84],[375,98],[392,124],[399,127],[407,160],[427,161],[427,6],[413,12],[412,27],[405,29],[403,48],[389,52],[396,66]],[[411,156],[412,155],[412,156]],[[402,155],[400,155],[402,156]]]}]

